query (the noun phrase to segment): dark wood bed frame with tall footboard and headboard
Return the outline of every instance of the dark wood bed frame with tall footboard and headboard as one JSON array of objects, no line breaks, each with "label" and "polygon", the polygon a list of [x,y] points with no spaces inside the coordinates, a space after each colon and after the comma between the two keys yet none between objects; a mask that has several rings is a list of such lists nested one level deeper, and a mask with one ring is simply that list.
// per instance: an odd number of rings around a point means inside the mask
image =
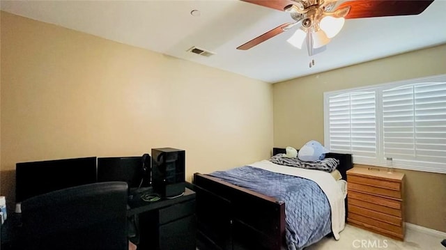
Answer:
[{"label": "dark wood bed frame with tall footboard and headboard", "polygon": [[[272,154],[285,153],[273,148]],[[353,167],[348,154],[328,153],[339,159],[337,169],[346,180]],[[285,245],[285,203],[275,198],[194,173],[197,193],[197,246],[207,249],[279,250]],[[346,210],[347,217],[347,210]]]}]

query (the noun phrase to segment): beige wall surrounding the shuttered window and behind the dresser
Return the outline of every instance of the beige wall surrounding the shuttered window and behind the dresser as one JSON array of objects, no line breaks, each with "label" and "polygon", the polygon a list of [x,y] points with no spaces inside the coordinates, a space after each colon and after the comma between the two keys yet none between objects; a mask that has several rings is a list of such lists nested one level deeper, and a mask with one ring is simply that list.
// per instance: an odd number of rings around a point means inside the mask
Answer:
[{"label": "beige wall surrounding the shuttered window and behind the dresser", "polygon": [[[274,84],[274,145],[323,143],[325,91],[445,73],[446,45],[441,45]],[[446,174],[402,172],[406,221],[446,232]]]}]

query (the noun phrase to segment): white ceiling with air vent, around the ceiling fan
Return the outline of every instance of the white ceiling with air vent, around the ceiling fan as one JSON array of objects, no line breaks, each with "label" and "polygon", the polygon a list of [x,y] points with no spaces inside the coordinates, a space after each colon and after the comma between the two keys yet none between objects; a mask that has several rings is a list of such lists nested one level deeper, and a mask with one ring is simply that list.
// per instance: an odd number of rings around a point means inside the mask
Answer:
[{"label": "white ceiling with air vent, around the ceiling fan", "polygon": [[[236,49],[292,22],[288,13],[238,0],[2,0],[1,10],[270,83],[446,43],[445,0],[435,0],[420,15],[347,19],[327,50],[312,57],[305,45],[296,49],[286,42],[293,31],[247,51]],[[186,52],[192,46],[216,54]],[[312,59],[316,65],[309,68]]]}]

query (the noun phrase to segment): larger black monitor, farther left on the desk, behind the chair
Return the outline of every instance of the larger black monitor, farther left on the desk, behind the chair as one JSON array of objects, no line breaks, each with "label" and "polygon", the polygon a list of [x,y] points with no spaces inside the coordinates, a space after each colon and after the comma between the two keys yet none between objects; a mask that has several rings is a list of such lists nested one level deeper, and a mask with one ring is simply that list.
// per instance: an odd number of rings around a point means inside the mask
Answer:
[{"label": "larger black monitor, farther left on the desk, behind the chair", "polygon": [[15,164],[15,201],[96,182],[96,157]]}]

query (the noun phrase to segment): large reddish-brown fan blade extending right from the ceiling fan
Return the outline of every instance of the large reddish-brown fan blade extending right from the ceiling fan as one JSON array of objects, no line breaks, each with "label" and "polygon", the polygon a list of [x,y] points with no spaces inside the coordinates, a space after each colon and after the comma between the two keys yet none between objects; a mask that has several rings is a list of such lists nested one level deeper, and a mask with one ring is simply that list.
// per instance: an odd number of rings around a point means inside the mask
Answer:
[{"label": "large reddish-brown fan blade extending right from the ceiling fan", "polygon": [[341,3],[337,9],[351,6],[346,19],[418,15],[432,2],[433,0],[356,0]]}]

